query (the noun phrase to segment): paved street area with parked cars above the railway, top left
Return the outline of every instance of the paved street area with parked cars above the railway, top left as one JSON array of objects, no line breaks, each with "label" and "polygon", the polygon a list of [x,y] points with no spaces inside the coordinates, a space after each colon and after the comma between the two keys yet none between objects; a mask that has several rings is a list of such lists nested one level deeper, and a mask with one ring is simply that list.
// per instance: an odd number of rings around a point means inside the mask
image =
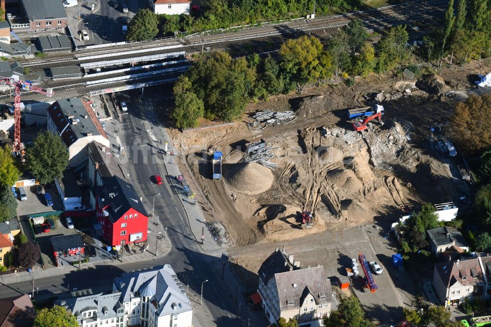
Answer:
[{"label": "paved street area with parked cars above the railway, top left", "polygon": [[[78,0],[76,7],[65,8],[68,25],[75,34],[77,46],[96,45],[124,41],[123,25],[131,20],[138,9],[148,8],[146,0]],[[127,2],[128,13],[123,13]],[[115,8],[114,3],[117,3]],[[91,7],[94,4],[94,10]],[[83,40],[81,31],[86,30],[89,40]],[[105,34],[106,38],[103,38]]]}]

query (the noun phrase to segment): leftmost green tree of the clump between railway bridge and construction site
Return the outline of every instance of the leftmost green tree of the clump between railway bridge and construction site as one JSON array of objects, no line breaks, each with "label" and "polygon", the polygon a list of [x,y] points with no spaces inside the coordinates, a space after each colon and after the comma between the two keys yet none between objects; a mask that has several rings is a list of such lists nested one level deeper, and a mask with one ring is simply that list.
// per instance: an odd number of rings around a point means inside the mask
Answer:
[{"label": "leftmost green tree of the clump between railway bridge and construction site", "polygon": [[198,119],[205,113],[203,101],[191,91],[189,78],[181,75],[174,86],[175,108],[172,119],[178,128],[190,128],[198,125]]}]

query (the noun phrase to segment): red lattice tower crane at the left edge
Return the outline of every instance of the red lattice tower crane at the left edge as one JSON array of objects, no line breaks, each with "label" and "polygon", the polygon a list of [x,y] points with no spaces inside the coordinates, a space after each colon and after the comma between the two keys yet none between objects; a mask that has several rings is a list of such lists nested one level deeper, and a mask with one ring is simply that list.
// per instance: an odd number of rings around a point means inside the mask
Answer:
[{"label": "red lattice tower crane at the left edge", "polygon": [[21,81],[17,75],[12,75],[12,77],[0,76],[0,84],[7,84],[15,87],[13,154],[15,156],[20,156],[21,161],[24,162],[24,147],[21,143],[21,90],[46,94],[48,97],[52,97],[55,92],[52,88],[44,89],[33,86],[30,81]]}]

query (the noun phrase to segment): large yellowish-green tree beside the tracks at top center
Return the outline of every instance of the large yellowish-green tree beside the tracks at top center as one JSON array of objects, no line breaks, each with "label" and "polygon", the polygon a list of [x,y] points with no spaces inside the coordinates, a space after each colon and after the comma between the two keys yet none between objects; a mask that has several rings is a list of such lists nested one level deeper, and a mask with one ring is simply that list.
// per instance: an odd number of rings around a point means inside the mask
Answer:
[{"label": "large yellowish-green tree beside the tracks at top center", "polygon": [[308,82],[316,81],[321,76],[323,68],[320,59],[326,54],[319,39],[304,35],[287,40],[281,45],[279,54],[281,68],[297,83],[299,92]]}]

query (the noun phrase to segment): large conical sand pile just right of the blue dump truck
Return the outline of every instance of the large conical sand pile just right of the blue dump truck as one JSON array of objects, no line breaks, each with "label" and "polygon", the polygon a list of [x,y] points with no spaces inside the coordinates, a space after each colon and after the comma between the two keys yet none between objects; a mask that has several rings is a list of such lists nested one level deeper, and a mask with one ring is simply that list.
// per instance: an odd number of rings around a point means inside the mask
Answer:
[{"label": "large conical sand pile just right of the blue dump truck", "polygon": [[223,176],[234,191],[254,195],[268,191],[273,184],[273,173],[260,164],[235,164]]}]

